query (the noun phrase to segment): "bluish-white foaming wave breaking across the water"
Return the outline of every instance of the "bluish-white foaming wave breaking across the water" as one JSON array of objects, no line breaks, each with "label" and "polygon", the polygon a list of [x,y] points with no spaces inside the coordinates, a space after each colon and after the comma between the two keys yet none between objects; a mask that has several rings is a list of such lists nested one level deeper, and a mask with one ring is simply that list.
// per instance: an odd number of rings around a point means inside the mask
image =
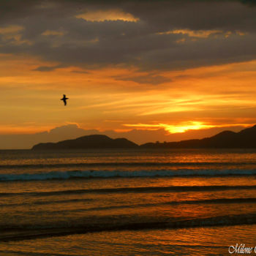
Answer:
[{"label": "bluish-white foaming wave breaking across the water", "polygon": [[69,170],[48,173],[0,174],[0,181],[45,181],[69,178],[138,178],[174,176],[254,176],[256,169],[215,170],[215,169],[178,169],[178,170]]}]

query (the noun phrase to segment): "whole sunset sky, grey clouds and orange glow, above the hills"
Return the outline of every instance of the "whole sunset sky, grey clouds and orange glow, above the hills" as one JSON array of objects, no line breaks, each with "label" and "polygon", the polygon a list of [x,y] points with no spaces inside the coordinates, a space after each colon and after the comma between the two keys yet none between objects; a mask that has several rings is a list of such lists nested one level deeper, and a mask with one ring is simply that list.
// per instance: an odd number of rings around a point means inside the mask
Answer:
[{"label": "whole sunset sky, grey clouds and orange glow, above the hills", "polygon": [[0,137],[252,126],[255,42],[252,0],[0,1]]}]

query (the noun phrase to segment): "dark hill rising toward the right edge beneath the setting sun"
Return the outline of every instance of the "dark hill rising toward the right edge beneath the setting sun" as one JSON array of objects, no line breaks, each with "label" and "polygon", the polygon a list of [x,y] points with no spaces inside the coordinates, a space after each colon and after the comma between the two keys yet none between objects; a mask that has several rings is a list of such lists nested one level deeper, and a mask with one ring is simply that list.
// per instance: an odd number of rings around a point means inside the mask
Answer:
[{"label": "dark hill rising toward the right edge beneath the setting sun", "polygon": [[143,148],[256,148],[256,125],[240,132],[224,131],[210,138],[169,143],[145,143]]}]

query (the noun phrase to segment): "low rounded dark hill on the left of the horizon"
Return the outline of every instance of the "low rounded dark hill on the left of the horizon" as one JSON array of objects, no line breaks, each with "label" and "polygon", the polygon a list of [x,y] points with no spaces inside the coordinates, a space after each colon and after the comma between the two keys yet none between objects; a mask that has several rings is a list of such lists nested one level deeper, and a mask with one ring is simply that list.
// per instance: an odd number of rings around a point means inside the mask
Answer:
[{"label": "low rounded dark hill on the left of the horizon", "polygon": [[75,148],[136,148],[137,144],[125,138],[111,139],[106,135],[88,135],[75,140],[62,140],[58,143],[39,143],[37,149],[75,149]]}]

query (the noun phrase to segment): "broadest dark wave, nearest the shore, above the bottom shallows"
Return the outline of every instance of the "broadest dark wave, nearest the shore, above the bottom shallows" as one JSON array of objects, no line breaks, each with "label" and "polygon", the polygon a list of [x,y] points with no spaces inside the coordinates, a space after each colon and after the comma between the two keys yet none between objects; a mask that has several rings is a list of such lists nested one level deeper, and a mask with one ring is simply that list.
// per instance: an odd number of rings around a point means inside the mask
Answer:
[{"label": "broadest dark wave, nearest the shore, above the bottom shallows", "polygon": [[[95,218],[94,218],[95,219]],[[113,230],[159,230],[177,229],[188,227],[211,227],[230,225],[255,225],[256,214],[224,215],[218,217],[192,218],[192,219],[162,219],[151,218],[151,221],[139,219],[124,219],[120,222],[113,222],[104,217],[94,219],[80,219],[70,225],[69,222],[55,222],[53,227],[22,225],[22,227],[1,227],[0,241],[22,241],[26,239],[48,238],[53,236],[69,236],[75,234],[113,231]],[[113,219],[112,219],[113,220]],[[12,230],[12,233],[8,232]],[[7,231],[5,233],[4,231]]]}]

